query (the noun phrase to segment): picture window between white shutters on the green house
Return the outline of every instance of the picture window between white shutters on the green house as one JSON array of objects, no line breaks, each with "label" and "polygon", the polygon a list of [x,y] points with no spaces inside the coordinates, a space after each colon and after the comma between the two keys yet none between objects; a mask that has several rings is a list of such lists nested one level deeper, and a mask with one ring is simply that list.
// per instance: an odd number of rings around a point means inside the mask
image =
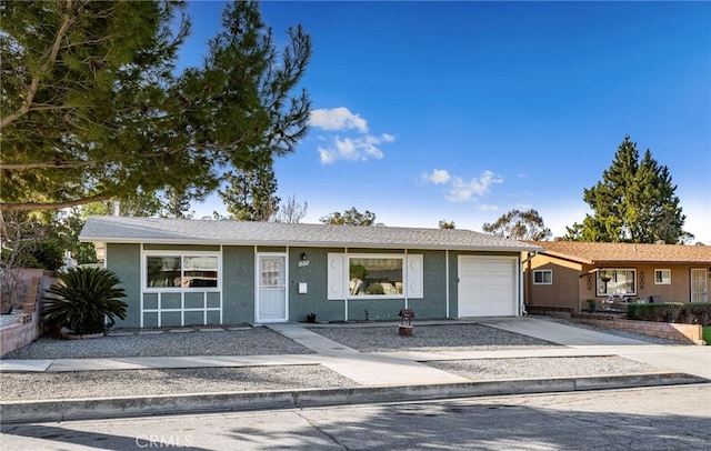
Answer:
[{"label": "picture window between white shutters on the green house", "polygon": [[402,295],[403,258],[357,257],[348,259],[348,294]]}]

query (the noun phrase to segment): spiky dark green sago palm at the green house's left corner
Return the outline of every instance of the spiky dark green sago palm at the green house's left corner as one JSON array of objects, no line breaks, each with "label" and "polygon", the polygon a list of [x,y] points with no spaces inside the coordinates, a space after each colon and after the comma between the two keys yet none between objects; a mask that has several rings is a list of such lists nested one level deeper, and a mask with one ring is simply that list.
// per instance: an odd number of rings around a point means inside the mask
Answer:
[{"label": "spiky dark green sago palm at the green house's left corner", "polygon": [[[126,319],[128,304],[119,278],[103,268],[72,268],[59,275],[60,283],[47,292],[57,298],[44,300],[44,319],[50,325],[67,327],[72,333],[106,333],[114,318]],[[108,322],[107,322],[108,321]]]}]

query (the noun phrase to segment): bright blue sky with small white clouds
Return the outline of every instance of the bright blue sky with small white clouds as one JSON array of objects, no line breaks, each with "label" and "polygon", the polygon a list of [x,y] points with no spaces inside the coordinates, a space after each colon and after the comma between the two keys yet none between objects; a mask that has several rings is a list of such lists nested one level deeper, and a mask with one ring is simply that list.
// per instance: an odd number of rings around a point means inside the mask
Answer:
[{"label": "bright blue sky with small white clouds", "polygon": [[[193,1],[194,66],[222,2]],[[356,207],[385,225],[481,230],[538,210],[554,235],[625,134],[669,168],[684,229],[711,244],[711,3],[267,1],[303,24],[311,131],[276,162],[302,222]],[[227,213],[216,196],[196,216]]]}]

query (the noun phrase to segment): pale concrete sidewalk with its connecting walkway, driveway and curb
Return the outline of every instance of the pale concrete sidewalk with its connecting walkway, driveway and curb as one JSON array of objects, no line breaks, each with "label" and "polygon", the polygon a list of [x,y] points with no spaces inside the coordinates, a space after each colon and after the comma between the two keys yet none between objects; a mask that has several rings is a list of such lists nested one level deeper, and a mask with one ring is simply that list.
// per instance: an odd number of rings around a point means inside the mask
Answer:
[{"label": "pale concrete sidewalk with its connecting walkway, driveway and curb", "polygon": [[[199,367],[321,364],[358,388],[279,390],[272,392],[193,393],[0,404],[2,420],[62,421],[80,418],[161,414],[194,411],[293,408],[337,403],[413,401],[473,395],[563,392],[593,389],[703,383],[711,380],[711,348],[660,345],[532,318],[478,319],[477,323],[535,337],[567,348],[361,353],[294,323],[270,324],[276,332],[314,354],[246,357],[166,357],[0,361],[0,371],[90,371]],[[417,325],[415,325],[417,333]],[[473,382],[424,362],[472,359],[620,355],[659,369],[644,374],[511,379]]]}]

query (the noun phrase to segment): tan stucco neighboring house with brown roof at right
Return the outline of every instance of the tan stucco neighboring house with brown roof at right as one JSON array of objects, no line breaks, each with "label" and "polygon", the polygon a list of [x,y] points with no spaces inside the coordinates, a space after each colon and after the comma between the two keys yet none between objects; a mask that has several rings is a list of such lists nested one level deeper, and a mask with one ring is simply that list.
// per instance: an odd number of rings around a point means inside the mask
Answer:
[{"label": "tan stucco neighboring house with brown roof at right", "polygon": [[[532,242],[529,242],[532,243]],[[708,302],[711,247],[535,242],[523,255],[525,304],[588,308],[587,299]],[[600,302],[598,302],[599,304]]]}]

